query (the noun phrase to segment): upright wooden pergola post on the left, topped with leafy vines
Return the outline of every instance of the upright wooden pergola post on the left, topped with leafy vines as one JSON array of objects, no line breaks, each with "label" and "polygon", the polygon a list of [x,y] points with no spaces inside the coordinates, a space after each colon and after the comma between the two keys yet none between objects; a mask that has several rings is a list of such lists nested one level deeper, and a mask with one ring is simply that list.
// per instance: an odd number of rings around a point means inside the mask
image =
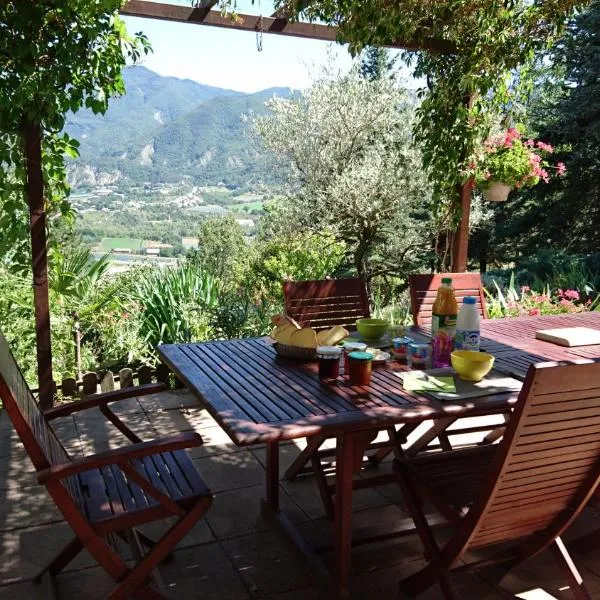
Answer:
[{"label": "upright wooden pergola post on the left, topped with leafy vines", "polygon": [[52,344],[50,339],[50,302],[48,297],[48,256],[46,249],[46,210],[44,177],[42,174],[42,131],[39,124],[23,125],[27,202],[31,231],[31,262],[33,270],[33,304],[37,350],[39,403],[42,409],[52,406]]}]

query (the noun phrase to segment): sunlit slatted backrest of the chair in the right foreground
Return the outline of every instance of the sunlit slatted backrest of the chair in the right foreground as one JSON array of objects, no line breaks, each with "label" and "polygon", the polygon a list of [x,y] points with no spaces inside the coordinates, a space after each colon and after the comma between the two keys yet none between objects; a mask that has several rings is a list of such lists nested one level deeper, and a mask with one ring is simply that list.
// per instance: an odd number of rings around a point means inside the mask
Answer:
[{"label": "sunlit slatted backrest of the chair in the right foreground", "polygon": [[599,481],[600,361],[531,365],[489,481],[454,543],[464,551],[536,534],[528,543],[541,550]]}]

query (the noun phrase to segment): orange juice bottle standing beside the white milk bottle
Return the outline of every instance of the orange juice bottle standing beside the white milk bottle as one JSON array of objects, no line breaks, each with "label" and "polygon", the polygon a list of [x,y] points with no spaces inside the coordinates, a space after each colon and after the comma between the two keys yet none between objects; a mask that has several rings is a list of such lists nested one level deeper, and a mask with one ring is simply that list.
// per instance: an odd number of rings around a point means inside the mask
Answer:
[{"label": "orange juice bottle standing beside the white milk bottle", "polygon": [[452,279],[444,277],[433,303],[431,319],[431,362],[434,368],[449,367],[456,334],[458,303]]}]

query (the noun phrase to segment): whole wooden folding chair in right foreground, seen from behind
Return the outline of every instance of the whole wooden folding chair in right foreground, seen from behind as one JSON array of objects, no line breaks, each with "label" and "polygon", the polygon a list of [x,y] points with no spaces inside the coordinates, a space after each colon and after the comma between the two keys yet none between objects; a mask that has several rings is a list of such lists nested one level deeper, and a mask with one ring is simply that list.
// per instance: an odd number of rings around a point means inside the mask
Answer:
[{"label": "whole wooden folding chair in right foreground, seen from behind", "polygon": [[[400,582],[401,597],[437,582],[457,598],[452,571],[504,573],[549,547],[572,596],[591,598],[560,536],[600,481],[600,361],[532,365],[499,445],[396,458],[394,471],[429,561]],[[443,545],[424,500],[454,527]],[[465,565],[471,550],[489,556]]]}]

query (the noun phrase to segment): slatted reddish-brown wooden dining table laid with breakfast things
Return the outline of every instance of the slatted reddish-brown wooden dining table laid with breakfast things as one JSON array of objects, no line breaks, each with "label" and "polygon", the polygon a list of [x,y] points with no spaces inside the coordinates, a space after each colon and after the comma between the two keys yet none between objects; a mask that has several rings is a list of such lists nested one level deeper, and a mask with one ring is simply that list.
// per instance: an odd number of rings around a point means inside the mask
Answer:
[{"label": "slatted reddish-brown wooden dining table laid with breakfast things", "polygon": [[[497,370],[523,379],[533,362],[600,357],[600,346],[563,348],[535,339],[538,329],[581,326],[600,329],[600,313],[488,320],[481,347],[495,355]],[[404,390],[400,372],[407,366],[396,361],[375,369],[369,386],[352,387],[343,376],[323,383],[314,364],[279,357],[261,338],[164,344],[158,352],[236,445],[265,444],[263,513],[302,551],[332,598],[350,597],[353,479],[372,432],[414,429],[431,419],[443,429],[458,418],[506,413],[518,397],[511,391],[435,400]],[[336,438],[333,573],[279,504],[279,444],[323,435]]]}]

